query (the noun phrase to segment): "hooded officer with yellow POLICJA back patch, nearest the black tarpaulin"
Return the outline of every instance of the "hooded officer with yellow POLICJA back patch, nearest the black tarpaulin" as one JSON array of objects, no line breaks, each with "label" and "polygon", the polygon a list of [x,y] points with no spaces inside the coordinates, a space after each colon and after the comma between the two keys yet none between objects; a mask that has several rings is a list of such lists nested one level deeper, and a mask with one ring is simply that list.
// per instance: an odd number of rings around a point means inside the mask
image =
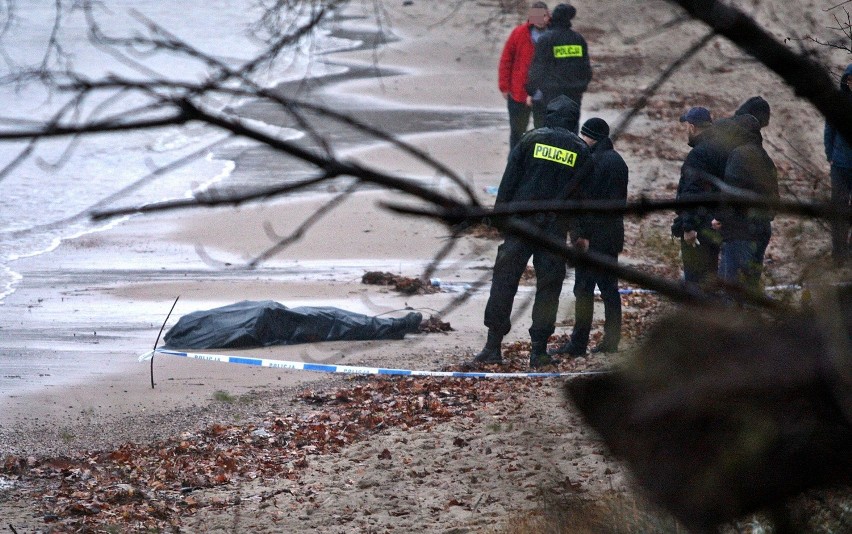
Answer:
[{"label": "hooded officer with yellow POLICJA back patch, nearest the black tarpaulin", "polygon": [[[566,96],[547,106],[545,125],[527,132],[509,154],[500,181],[496,206],[513,202],[549,201],[574,198],[583,181],[591,176],[589,148],[569,126],[578,120],[580,109]],[[525,216],[546,235],[560,242],[568,236],[568,221],[556,213]],[[530,257],[536,272],[536,294],[532,309],[530,366],[551,363],[547,340],[553,334],[559,294],[565,279],[565,260],[560,256],[513,236],[497,249],[491,292],[485,306],[488,339],[472,363],[502,363],[501,342],[512,328],[511,315],[518,283]]]}]

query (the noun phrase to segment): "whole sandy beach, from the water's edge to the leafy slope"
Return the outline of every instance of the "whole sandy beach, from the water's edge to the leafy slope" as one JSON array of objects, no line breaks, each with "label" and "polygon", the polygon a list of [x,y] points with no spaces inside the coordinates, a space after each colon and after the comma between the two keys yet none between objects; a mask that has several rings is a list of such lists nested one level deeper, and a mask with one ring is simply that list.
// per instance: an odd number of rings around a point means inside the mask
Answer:
[{"label": "whole sandy beach, from the water's edge to the leafy slope", "polygon": [[[380,66],[404,74],[346,80],[321,87],[310,96],[326,104],[340,102],[346,109],[381,105],[405,110],[396,116],[383,114],[389,122],[376,125],[392,132],[409,131],[405,121],[417,111],[459,116],[481,113],[485,118],[478,127],[464,127],[462,121],[452,130],[436,128],[434,132],[405,135],[403,139],[454,169],[477,192],[482,203],[490,204],[493,197],[484,188],[499,183],[509,137],[508,124],[493,120],[500,114],[505,116],[505,102],[497,90],[497,59],[506,35],[519,19],[514,14],[501,15],[496,2],[465,4],[460,11],[445,3],[408,4],[395,4],[387,13],[390,24],[386,29],[398,40],[382,46],[378,53],[356,50],[325,58],[337,64]],[[703,32],[701,25],[689,22],[668,30],[668,36],[661,33],[627,44],[630,37],[641,36],[671,18],[669,4],[584,1],[574,5],[579,13],[576,27],[594,50],[596,69],[583,103],[584,119],[595,115],[615,122],[624,113],[629,97],[635,96],[631,89],[647,85],[662,66],[677,57],[684,42],[696,40]],[[778,16],[795,16],[797,21],[801,18],[796,15],[797,9],[782,2],[773,6]],[[614,9],[622,12],[623,20],[633,21],[629,27],[616,24],[610,15]],[[757,15],[772,23],[764,11]],[[358,28],[357,21],[349,24]],[[777,24],[772,27],[779,28]],[[724,116],[753,94],[762,94],[772,103],[773,117],[777,118],[767,132],[768,149],[782,169],[788,191],[801,191],[809,176],[800,176],[797,163],[827,172],[820,159],[822,121],[817,114],[795,99],[766,69],[722,42],[712,45],[688,69],[678,73],[616,144],[631,168],[631,197],[673,196],[679,158],[687,149],[676,125],[683,110],[693,104],[705,105],[712,107],[714,114]],[[395,124],[394,120],[400,123]],[[789,127],[794,124],[796,128]],[[813,157],[803,162],[802,152]],[[348,144],[340,155],[436,187],[447,187],[434,178],[433,171],[385,143]],[[269,172],[268,168],[276,165],[265,159],[271,157],[274,156],[247,154],[242,160],[237,159],[235,172]],[[824,176],[819,179],[824,180]],[[67,240],[48,254],[17,260],[14,267],[23,278],[15,292],[0,304],[0,458],[108,450],[128,441],[152,442],[195,432],[214,423],[251,421],[272,412],[293,413],[304,410],[294,401],[297,392],[346,383],[344,378],[319,373],[158,356],[154,363],[156,388],[151,389],[149,365],[139,363],[137,357],[152,348],[178,297],[169,326],[191,311],[239,300],[336,306],[370,315],[401,316],[406,310],[416,310],[427,317],[453,302],[458,296],[454,291],[404,295],[387,287],[361,283],[361,276],[367,271],[420,276],[449,236],[441,224],[400,217],[382,209],[382,202],[409,199],[375,189],[346,197],[301,240],[260,267],[244,267],[271,245],[269,229],[279,236],[293,232],[339,194],[339,189],[333,189],[239,208],[135,216],[110,230]],[[825,190],[817,191],[818,196],[826,194]],[[641,221],[630,219],[622,259],[641,264],[670,261],[664,251],[653,245],[665,245],[669,219],[670,214],[666,213]],[[779,282],[799,281],[801,271],[791,269],[783,260],[805,251],[818,261],[827,250],[828,236],[816,225],[806,225],[795,232],[791,229],[787,236],[785,220],[776,224],[777,229],[783,229],[778,233],[782,237],[770,245],[768,257],[775,263],[768,267],[768,276]],[[784,236],[789,240],[782,241]],[[459,239],[432,277],[450,289],[487,282],[498,244],[471,237]],[[569,276],[563,286],[560,320],[573,314],[572,281]],[[269,347],[240,353],[280,360],[441,369],[461,363],[481,348],[487,289],[485,284],[442,316],[453,327],[445,334],[410,335],[401,341]],[[524,310],[521,302],[529,300],[533,292],[534,287],[521,286],[516,306]],[[596,311],[596,318],[601,316],[602,311]],[[526,341],[528,327],[528,310],[517,313],[506,342]],[[556,333],[567,332],[570,327],[563,325]],[[579,366],[612,362],[583,360]],[[217,403],[217,392],[247,400]],[[503,425],[503,432],[493,432],[495,421]],[[509,428],[507,424],[514,426]],[[471,448],[454,448],[456,435],[463,435],[464,443],[471,444]],[[518,452],[533,435],[547,439]],[[428,483],[414,489],[406,486],[402,471],[389,468],[377,457],[387,447],[398,457],[423,456],[425,464],[421,467],[433,473]],[[480,454],[486,448],[494,454]],[[440,459],[442,450],[451,450],[453,458]],[[513,456],[512,461],[517,465],[539,467],[533,472],[521,469],[517,474],[501,471],[507,462],[505,457],[501,460],[500,454],[515,453],[518,456]],[[546,469],[542,470],[542,465]],[[480,473],[478,479],[473,478],[480,482],[447,473],[453,469],[468,469],[462,472],[469,473],[477,466],[482,470],[476,471]],[[373,477],[374,483],[362,484],[352,482],[352,478],[360,480],[353,472],[361,479],[366,477],[364,473],[383,474]],[[447,482],[450,479],[452,482]],[[556,487],[555,479],[563,487],[583,486],[583,492],[594,493],[601,488],[630,491],[629,476],[623,467],[607,456],[593,435],[586,433],[579,416],[562,400],[559,384],[553,382],[527,391],[524,398],[503,397],[471,420],[442,423],[429,431],[388,430],[374,441],[353,445],[342,456],[318,458],[306,470],[300,487],[326,488],[322,504],[317,501],[308,513],[293,512],[285,504],[273,510],[258,501],[243,509],[241,518],[246,523],[241,527],[255,532],[293,528],[323,532],[347,532],[353,528],[449,531],[456,527],[467,530],[453,532],[487,531],[534,505],[530,495],[535,494],[536,488]],[[276,491],[287,483],[254,484],[242,486],[242,493],[238,494]],[[506,496],[509,489],[517,489],[517,493]],[[230,490],[216,491],[211,490],[205,498],[220,498],[221,493]],[[392,513],[395,505],[382,504],[388,495],[407,491],[421,491],[424,499],[440,501],[442,507],[454,498],[477,504],[464,509],[447,505],[451,511],[439,518],[423,502],[412,501],[403,507],[414,510],[404,517]],[[366,508],[352,512],[354,515],[346,520],[345,514],[344,519],[335,515],[340,503],[360,499],[362,494],[368,502]],[[0,510],[33,531],[40,524],[38,513],[21,500],[4,502],[0,498]],[[269,523],[273,517],[277,519]],[[211,507],[186,521],[188,531],[230,532],[234,508]],[[30,530],[19,529],[25,531]]]}]

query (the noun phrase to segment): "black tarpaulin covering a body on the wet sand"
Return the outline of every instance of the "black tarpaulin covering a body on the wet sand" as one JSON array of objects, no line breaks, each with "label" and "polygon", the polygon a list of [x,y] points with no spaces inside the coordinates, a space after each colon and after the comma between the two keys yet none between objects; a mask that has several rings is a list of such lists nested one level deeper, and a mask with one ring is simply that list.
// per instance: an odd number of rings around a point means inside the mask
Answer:
[{"label": "black tarpaulin covering a body on the wet sand", "polygon": [[288,308],[271,300],[244,300],[184,315],[164,339],[171,349],[295,345],[317,341],[402,339],[417,332],[422,315],[380,318],[339,308]]}]

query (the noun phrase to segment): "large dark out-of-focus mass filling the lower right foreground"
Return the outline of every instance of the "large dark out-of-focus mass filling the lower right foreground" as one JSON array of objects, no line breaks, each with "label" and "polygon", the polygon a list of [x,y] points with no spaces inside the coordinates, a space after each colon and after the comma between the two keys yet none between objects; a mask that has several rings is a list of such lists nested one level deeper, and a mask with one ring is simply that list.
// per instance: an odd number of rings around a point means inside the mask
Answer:
[{"label": "large dark out-of-focus mass filling the lower right foreground", "polygon": [[623,367],[567,393],[688,528],[766,510],[795,531],[788,498],[852,481],[852,291],[819,302],[770,319],[678,313]]}]

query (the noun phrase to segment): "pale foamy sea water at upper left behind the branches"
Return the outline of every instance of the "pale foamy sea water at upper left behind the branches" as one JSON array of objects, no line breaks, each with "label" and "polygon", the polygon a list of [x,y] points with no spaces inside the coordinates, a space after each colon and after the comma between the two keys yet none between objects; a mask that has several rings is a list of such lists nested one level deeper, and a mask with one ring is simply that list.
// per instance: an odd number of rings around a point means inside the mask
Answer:
[{"label": "pale foamy sea water at upper left behind the branches", "polygon": [[[252,32],[261,15],[256,0],[111,0],[93,3],[89,13],[82,4],[63,0],[59,12],[55,0],[16,1],[6,12],[6,5],[0,7],[0,22],[8,23],[0,36],[0,78],[7,82],[0,86],[0,101],[5,104],[0,111],[0,131],[36,128],[69,102],[70,93],[49,91],[38,79],[10,83],[15,73],[42,64],[69,67],[91,80],[114,74],[138,80],[156,76],[197,82],[210,71],[187,54],[156,52],[144,46],[130,52],[104,46],[92,39],[90,20],[110,37],[149,36],[146,24],[156,23],[168,37],[234,67],[264,47],[257,32]],[[308,15],[291,13],[290,20],[283,23],[299,24]],[[59,46],[49,47],[55,29]],[[261,69],[256,79],[271,87],[308,73],[316,77],[339,72],[341,67],[317,62],[317,55],[356,45],[331,36],[328,26],[322,26],[288,49],[286,60]],[[114,116],[147,103],[138,94],[114,100],[108,99],[109,94],[115,93],[93,94],[78,108],[80,117]],[[233,98],[213,105],[243,103],[244,99]],[[268,128],[279,137],[301,135],[272,125]],[[225,184],[235,168],[230,156],[251,144],[197,123],[44,139],[32,146],[26,141],[0,141],[0,169],[6,169],[0,175],[0,305],[21,280],[15,272],[16,260],[48,253],[65,239],[120,222],[92,222],[92,210],[184,198]],[[184,164],[167,173],[156,172],[184,159]]]}]

